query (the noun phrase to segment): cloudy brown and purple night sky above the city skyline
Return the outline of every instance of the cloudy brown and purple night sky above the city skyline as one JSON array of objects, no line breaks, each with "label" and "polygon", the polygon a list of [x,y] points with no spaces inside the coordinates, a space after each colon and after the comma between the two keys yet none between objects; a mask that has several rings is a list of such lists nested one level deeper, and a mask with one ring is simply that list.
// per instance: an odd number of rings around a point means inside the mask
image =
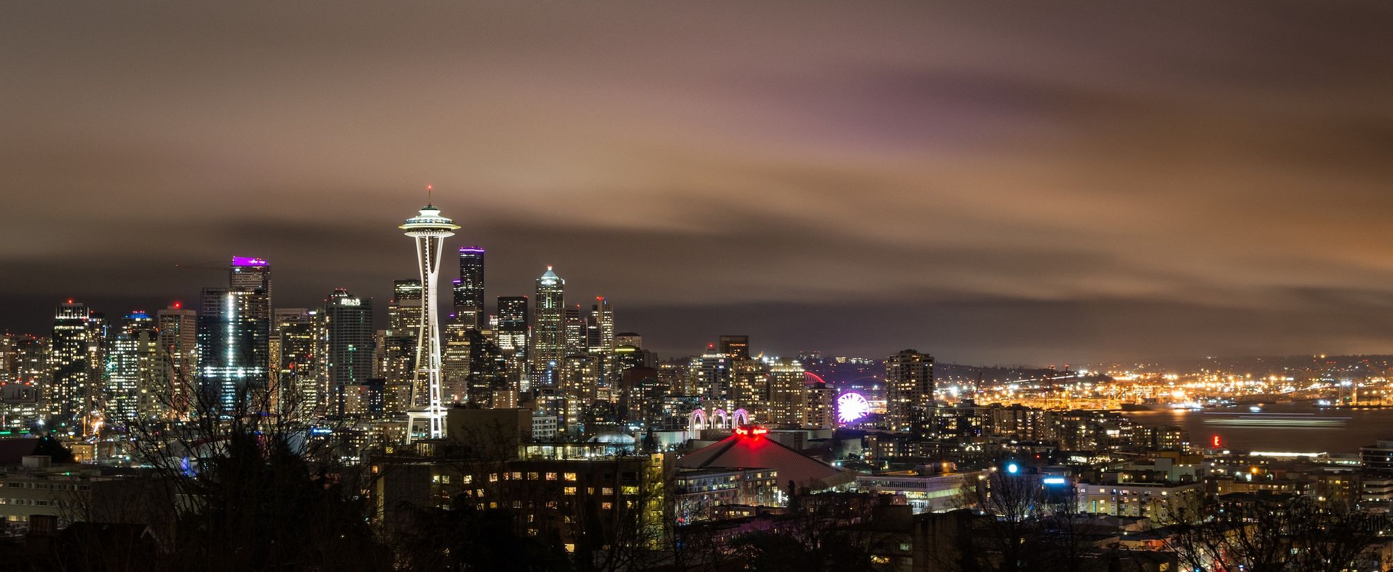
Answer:
[{"label": "cloudy brown and purple night sky above the city skyline", "polygon": [[1393,352],[1393,7],[922,4],[6,3],[0,330],[384,306],[433,184],[663,356]]}]

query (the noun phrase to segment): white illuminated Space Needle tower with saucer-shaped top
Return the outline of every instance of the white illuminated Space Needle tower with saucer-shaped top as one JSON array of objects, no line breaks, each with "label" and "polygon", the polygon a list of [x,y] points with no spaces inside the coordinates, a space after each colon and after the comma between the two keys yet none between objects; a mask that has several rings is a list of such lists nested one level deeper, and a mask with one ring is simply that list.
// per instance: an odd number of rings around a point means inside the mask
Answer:
[{"label": "white illuminated Space Needle tower with saucer-shaped top", "polygon": [[[426,193],[430,186],[426,185]],[[444,253],[444,239],[454,237],[460,228],[453,220],[442,217],[426,200],[421,213],[407,219],[400,227],[407,237],[417,241],[417,263],[421,269],[421,330],[417,331],[417,374],[411,384],[411,405],[414,408],[425,405],[422,411],[410,412],[407,438],[415,438],[417,423],[429,420],[429,438],[444,437],[444,405],[440,391],[440,317],[439,302],[436,302],[436,283],[440,281],[440,256]],[[425,388],[429,399],[422,399],[419,391]]]}]

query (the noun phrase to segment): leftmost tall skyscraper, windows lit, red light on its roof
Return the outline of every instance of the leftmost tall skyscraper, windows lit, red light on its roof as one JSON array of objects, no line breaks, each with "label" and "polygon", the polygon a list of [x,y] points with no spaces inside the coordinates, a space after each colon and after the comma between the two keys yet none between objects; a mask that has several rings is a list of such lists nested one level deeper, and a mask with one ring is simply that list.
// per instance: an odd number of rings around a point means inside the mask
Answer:
[{"label": "leftmost tall skyscraper, windows lit, red light on its roof", "polygon": [[100,335],[85,303],[68,301],[53,316],[49,338],[49,415],[82,433],[81,419],[91,412],[96,363],[92,347]]}]

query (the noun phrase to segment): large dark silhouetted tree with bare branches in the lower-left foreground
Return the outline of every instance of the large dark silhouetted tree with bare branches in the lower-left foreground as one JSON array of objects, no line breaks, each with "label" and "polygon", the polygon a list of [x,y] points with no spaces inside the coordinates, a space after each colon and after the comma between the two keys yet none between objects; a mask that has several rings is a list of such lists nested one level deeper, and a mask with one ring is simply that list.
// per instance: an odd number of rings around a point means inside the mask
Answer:
[{"label": "large dark silhouetted tree with bare branches in the lower-left foreground", "polygon": [[[132,456],[169,483],[177,507],[173,562],[206,569],[384,569],[390,554],[368,527],[365,507],[338,476],[336,427],[316,426],[301,392],[279,381],[231,395],[185,398],[187,420],[130,423]],[[191,559],[192,558],[192,559]]]}]

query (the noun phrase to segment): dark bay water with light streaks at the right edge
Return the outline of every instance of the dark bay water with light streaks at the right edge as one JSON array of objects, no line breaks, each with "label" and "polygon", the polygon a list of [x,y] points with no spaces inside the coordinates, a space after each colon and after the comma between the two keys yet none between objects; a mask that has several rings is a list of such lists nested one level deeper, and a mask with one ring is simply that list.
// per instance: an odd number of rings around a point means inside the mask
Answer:
[{"label": "dark bay water with light streaks at the right edge", "polygon": [[1127,412],[1142,424],[1178,424],[1190,441],[1204,447],[1219,436],[1220,447],[1247,451],[1360,452],[1375,440],[1393,438],[1393,409],[1315,408],[1309,401],[1206,411]]}]

